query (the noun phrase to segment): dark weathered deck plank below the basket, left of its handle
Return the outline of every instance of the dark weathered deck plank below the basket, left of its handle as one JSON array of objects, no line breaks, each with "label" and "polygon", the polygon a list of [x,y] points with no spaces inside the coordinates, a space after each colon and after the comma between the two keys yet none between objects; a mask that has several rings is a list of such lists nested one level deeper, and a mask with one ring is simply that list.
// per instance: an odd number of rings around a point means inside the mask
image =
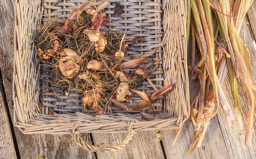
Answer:
[{"label": "dark weathered deck plank below the basket, left of its handle", "polygon": [[[24,135],[15,128],[21,158],[96,158],[93,152],[79,147],[70,135]],[[81,137],[91,143],[90,134]]]}]

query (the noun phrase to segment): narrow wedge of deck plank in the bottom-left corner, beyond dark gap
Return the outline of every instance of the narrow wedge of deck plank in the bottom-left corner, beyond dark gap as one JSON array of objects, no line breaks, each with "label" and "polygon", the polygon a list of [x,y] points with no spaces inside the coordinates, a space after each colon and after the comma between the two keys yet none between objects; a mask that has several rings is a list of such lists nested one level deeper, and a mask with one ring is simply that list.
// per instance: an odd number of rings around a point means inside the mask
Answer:
[{"label": "narrow wedge of deck plank in the bottom-left corner, beyond dark gap", "polygon": [[13,144],[11,128],[3,102],[3,96],[0,92],[0,158],[17,158]]}]

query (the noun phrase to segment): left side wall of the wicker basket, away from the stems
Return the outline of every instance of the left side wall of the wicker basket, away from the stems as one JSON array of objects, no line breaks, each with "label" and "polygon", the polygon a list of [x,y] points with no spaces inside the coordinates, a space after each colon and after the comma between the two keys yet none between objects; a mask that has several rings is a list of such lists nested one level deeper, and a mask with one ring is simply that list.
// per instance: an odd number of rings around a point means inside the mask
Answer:
[{"label": "left side wall of the wicker basket, away from the stems", "polygon": [[14,119],[27,122],[39,112],[39,67],[32,35],[40,23],[41,1],[20,0],[15,6]]}]

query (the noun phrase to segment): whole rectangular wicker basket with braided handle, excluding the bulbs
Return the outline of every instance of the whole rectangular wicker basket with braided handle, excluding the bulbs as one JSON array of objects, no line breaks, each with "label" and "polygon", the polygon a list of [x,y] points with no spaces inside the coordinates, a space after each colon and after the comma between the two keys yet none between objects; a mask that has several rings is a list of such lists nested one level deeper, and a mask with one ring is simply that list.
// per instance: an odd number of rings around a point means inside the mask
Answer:
[{"label": "whole rectangular wicker basket with braided handle, excluding the bulbs", "polygon": [[[113,16],[115,2],[105,13],[111,23],[107,28],[126,33],[127,37],[145,37],[142,44],[129,49],[129,54],[140,55],[157,48],[155,57],[163,60],[151,76],[160,89],[172,77],[173,89],[153,103],[156,117],[145,121],[139,112],[126,113],[111,107],[96,116],[84,110],[81,96],[75,89],[58,87],[50,81],[49,68],[40,66],[34,50],[33,32],[41,22],[52,18],[66,18],[70,11],[84,0],[16,0],[15,52],[13,75],[14,125],[24,134],[70,134],[81,147],[95,152],[115,151],[125,146],[135,131],[177,129],[189,117],[189,83],[187,70],[186,6],[187,1],[125,0],[121,2],[124,13]],[[100,4],[91,3],[91,6]],[[147,63],[147,61],[145,61]],[[146,93],[154,90],[147,82],[139,87]],[[136,103],[136,97],[134,98]],[[138,102],[139,98],[137,98]],[[49,115],[49,112],[52,114]],[[128,128],[127,128],[128,127]],[[86,144],[79,133],[125,133],[127,136],[118,145],[94,146]]]}]

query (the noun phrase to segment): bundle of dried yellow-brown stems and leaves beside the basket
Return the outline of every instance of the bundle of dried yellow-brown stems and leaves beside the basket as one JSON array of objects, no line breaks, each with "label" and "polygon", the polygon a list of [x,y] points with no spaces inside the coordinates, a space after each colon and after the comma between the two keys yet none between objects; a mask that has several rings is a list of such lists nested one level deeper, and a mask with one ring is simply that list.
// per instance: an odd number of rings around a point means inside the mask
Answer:
[{"label": "bundle of dried yellow-brown stems and leaves beside the basket", "polygon": [[[241,73],[250,102],[246,121],[245,145],[251,144],[255,109],[253,90],[256,90],[256,84],[251,79],[250,54],[239,36],[239,31],[252,2],[191,0],[192,65],[190,81],[194,79],[193,76],[198,76],[200,89],[191,104],[191,119],[198,131],[188,153],[193,147],[200,146],[210,118],[214,117],[218,111],[219,103],[225,110],[227,125],[232,126],[234,117],[231,105],[226,99],[224,85],[227,74],[235,101],[235,114],[240,129],[244,130],[243,112],[237,92],[238,70]],[[187,22],[189,23],[189,20]],[[217,22],[217,25],[213,22]],[[198,43],[200,54],[196,54],[195,41]],[[201,71],[194,75],[196,69]]]}]

